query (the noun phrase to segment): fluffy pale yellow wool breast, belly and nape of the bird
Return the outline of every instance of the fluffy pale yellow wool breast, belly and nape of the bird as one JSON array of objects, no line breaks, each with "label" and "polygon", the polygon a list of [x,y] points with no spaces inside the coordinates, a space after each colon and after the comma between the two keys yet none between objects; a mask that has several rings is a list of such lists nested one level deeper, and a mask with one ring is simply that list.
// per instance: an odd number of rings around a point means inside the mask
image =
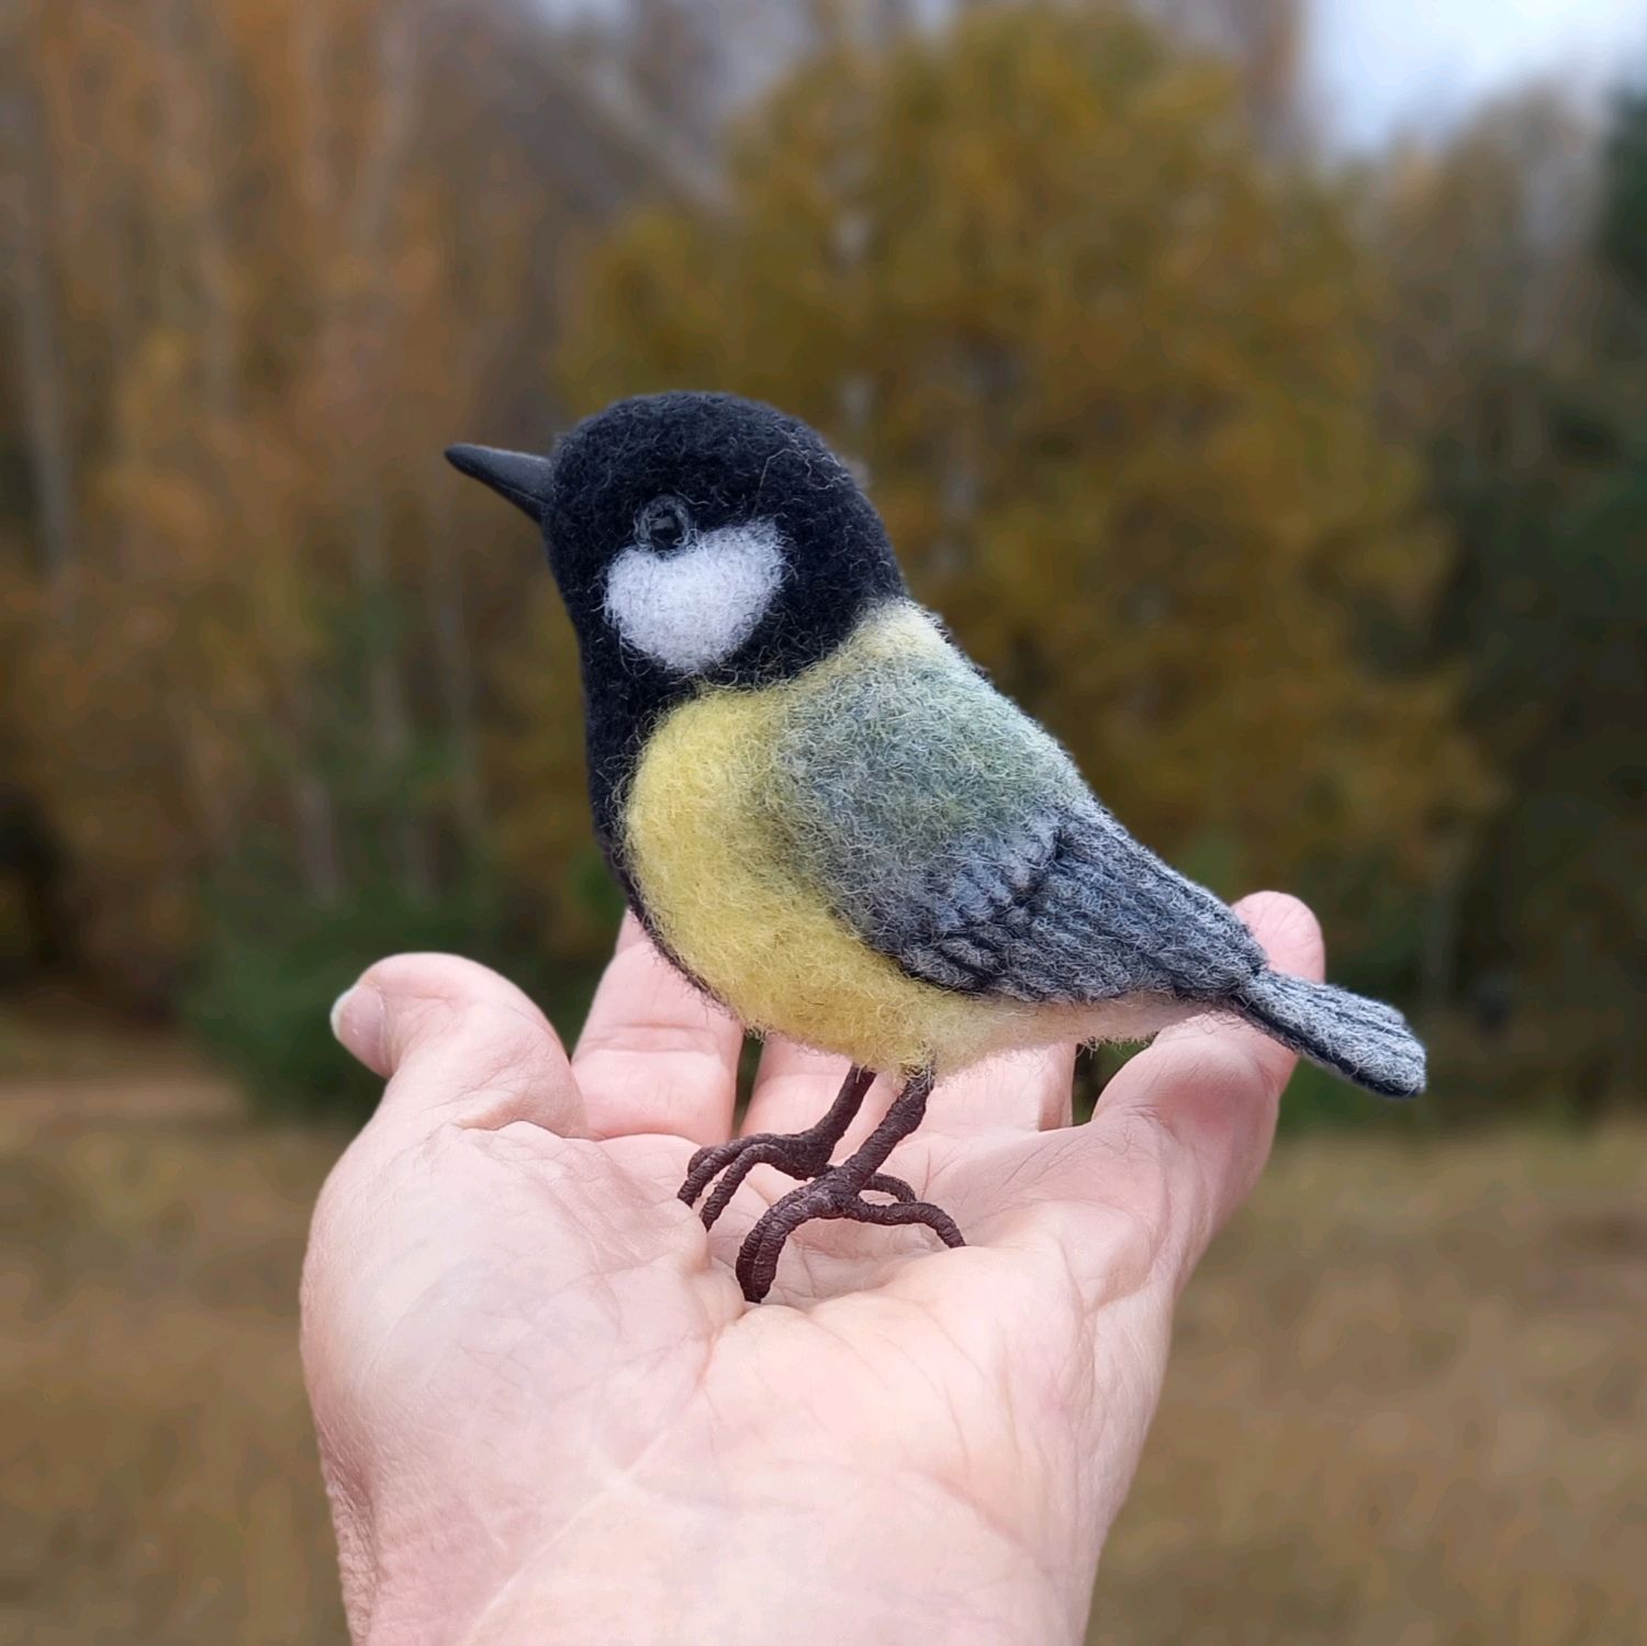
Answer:
[{"label": "fluffy pale yellow wool breast, belly and nape of the bird", "polygon": [[[947,666],[945,656],[960,667]],[[931,1061],[952,1071],[1005,1046],[1082,1033],[1072,1013],[1033,1012],[1010,997],[963,995],[934,984],[866,944],[842,914],[832,873],[853,855],[853,842],[827,812],[809,811],[797,783],[805,748],[830,730],[837,705],[863,708],[842,694],[843,680],[889,664],[883,707],[893,710],[907,704],[921,662],[937,664],[942,685],[927,708],[939,717],[954,707],[944,687],[995,695],[924,613],[896,601],[796,680],[764,692],[712,690],[675,708],[649,741],[624,807],[626,857],[637,890],[665,947],[690,974],[751,1030],[782,1031],[871,1069]],[[837,723],[833,730],[850,761],[851,728]],[[1056,745],[1044,741],[1062,761]],[[861,738],[858,746],[873,755]],[[851,781],[850,771],[837,768],[837,774]],[[952,776],[945,768],[937,774]],[[944,788],[944,799],[929,807],[927,839],[954,816],[944,807],[965,806],[952,783]],[[916,799],[912,811],[921,809]],[[922,839],[921,822],[919,816],[903,819],[911,840]],[[860,852],[847,885],[873,891],[909,860],[903,839],[888,837],[886,845],[896,845],[896,860],[888,862],[883,849]],[[1112,1033],[1153,1031],[1159,1018],[1151,1008]]]}]

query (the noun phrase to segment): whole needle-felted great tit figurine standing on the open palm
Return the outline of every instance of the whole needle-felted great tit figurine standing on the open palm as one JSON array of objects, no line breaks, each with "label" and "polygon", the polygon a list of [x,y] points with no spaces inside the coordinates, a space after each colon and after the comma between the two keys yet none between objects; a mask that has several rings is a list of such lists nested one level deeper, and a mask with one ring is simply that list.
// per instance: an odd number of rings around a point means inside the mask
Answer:
[{"label": "whole needle-felted great tit figurine standing on the open palm", "polygon": [[[659,949],[751,1031],[851,1063],[817,1125],[688,1167],[687,1204],[715,1185],[705,1224],[759,1163],[799,1180],[740,1249],[751,1302],[812,1218],[963,1244],[883,1167],[934,1081],[990,1053],[1224,1012],[1385,1097],[1423,1089],[1398,1012],[1271,970],[1230,908],[1110,816],[911,600],[875,507],[800,420],[654,394],[552,456],[446,456],[544,534],[578,636],[595,832]],[[876,1074],[898,1096],[832,1163]]]}]

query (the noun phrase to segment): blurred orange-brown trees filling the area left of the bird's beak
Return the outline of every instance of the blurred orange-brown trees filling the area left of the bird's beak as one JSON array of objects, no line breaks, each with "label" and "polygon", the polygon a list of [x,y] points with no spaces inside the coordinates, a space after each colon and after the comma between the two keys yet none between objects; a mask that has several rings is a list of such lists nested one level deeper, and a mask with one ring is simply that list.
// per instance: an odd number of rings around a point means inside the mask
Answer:
[{"label": "blurred orange-brown trees filling the area left of the bird's beak", "polygon": [[491,853],[484,638],[537,567],[438,455],[542,438],[563,247],[705,161],[525,5],[3,26],[0,715],[84,954],[163,1002],[203,886],[432,898]]}]

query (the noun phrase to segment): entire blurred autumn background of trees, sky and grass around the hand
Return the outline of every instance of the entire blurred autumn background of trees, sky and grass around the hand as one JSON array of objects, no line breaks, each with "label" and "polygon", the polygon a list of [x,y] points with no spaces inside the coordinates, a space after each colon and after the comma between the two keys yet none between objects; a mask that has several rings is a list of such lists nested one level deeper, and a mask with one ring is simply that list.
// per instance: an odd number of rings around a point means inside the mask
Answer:
[{"label": "entire blurred autumn background of trees, sky and grass around the hand", "polygon": [[1647,1638],[1639,71],[1639,0],[8,5],[0,1638],[343,1639],[326,1007],[455,947],[570,1036],[618,916],[440,450],[670,386],[824,428],[1123,821],[1431,1041],[1290,1092],[1092,1639]]}]

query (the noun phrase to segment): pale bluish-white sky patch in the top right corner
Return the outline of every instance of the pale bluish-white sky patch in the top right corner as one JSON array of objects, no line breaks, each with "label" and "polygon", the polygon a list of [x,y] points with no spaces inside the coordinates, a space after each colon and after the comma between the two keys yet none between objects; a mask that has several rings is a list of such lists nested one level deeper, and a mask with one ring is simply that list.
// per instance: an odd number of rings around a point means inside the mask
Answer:
[{"label": "pale bluish-white sky patch in the top right corner", "polygon": [[1314,101],[1355,147],[1444,129],[1535,74],[1594,89],[1635,64],[1647,0],[1314,0]]}]

